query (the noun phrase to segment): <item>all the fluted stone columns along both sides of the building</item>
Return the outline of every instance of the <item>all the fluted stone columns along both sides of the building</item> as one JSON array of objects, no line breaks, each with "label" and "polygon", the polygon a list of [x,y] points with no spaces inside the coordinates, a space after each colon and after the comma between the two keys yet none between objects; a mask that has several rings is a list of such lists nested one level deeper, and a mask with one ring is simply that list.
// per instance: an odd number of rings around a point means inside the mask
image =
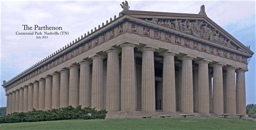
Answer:
[{"label": "all the fluted stone columns along both sides of the building", "polygon": [[[123,44],[121,78],[119,77],[118,49],[107,50],[106,110],[136,111],[136,73],[133,44]],[[156,111],[154,49],[142,48],[142,111]],[[223,65],[213,65],[213,91],[209,89],[208,61],[199,64],[196,82],[193,83],[193,57],[180,57],[181,76],[176,93],[174,53],[161,53],[163,61],[163,111],[193,113],[245,114],[245,79],[243,70],[237,71],[235,88],[235,68],[227,69],[226,84],[223,86]],[[104,109],[103,97],[103,59],[97,55],[91,61],[80,62],[80,67],[72,65],[52,75],[41,78],[28,86],[7,95],[8,113],[36,110],[58,109],[68,105],[96,107]],[[90,64],[92,63],[92,78]],[[80,69],[80,71],[79,71]],[[80,74],[79,74],[80,73]],[[91,84],[90,84],[91,81]],[[194,85],[193,85],[194,84]],[[91,85],[91,90],[90,90]],[[194,91],[193,91],[194,89]],[[225,93],[224,93],[225,92]],[[237,92],[237,93],[236,93]],[[195,97],[195,98],[194,98]],[[226,107],[224,107],[224,102]],[[212,105],[212,110],[210,106]],[[225,110],[224,110],[225,108]]]}]

